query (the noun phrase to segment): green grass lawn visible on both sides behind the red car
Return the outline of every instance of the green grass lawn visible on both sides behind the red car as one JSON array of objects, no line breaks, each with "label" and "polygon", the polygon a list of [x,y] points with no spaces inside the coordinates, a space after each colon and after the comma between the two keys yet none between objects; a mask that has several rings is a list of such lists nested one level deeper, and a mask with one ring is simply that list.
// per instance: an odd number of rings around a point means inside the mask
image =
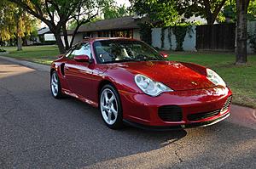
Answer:
[{"label": "green grass lawn visible on both sides behind the red car", "polygon": [[[49,65],[56,59],[56,46],[24,47],[17,52],[16,48],[4,48],[15,59],[25,59]],[[178,53],[169,52],[170,60],[193,62],[205,65],[218,72],[234,93],[233,103],[256,108],[256,54],[248,56],[247,65],[234,65],[235,54],[226,53]],[[3,54],[2,54],[3,55]]]}]

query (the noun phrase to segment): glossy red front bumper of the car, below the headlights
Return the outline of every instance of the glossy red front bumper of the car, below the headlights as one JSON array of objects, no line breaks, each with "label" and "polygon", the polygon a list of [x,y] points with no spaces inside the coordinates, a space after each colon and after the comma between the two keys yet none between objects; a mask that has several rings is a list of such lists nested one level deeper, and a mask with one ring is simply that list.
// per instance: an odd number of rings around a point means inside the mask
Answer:
[{"label": "glossy red front bumper of the car, below the headlights", "polygon": [[[222,110],[232,93],[227,87],[211,87],[189,91],[161,93],[158,97],[150,97],[141,93],[119,91],[123,107],[123,117],[128,123],[145,127],[197,127],[212,125],[230,115],[230,106]],[[182,110],[180,121],[165,121],[160,118],[159,109],[162,106],[178,106]],[[229,103],[230,105],[230,103]],[[189,115],[219,110],[217,115],[192,120]],[[172,112],[170,112],[172,113]],[[136,125],[137,126],[137,125]]]}]

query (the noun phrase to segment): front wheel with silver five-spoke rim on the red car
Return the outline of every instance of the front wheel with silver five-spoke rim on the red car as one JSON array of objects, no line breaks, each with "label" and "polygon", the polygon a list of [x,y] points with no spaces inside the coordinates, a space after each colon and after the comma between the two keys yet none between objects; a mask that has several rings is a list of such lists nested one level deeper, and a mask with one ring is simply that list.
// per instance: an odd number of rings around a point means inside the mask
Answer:
[{"label": "front wheel with silver five-spoke rim on the red car", "polygon": [[123,110],[119,93],[112,85],[102,87],[99,97],[102,120],[111,129],[123,127]]}]

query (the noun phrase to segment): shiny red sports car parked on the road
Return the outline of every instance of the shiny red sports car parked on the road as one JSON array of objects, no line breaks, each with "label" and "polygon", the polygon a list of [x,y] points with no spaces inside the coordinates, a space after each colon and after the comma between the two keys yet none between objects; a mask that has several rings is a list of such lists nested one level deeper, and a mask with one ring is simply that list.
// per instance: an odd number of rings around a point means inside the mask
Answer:
[{"label": "shiny red sports car parked on the road", "polygon": [[110,128],[166,130],[212,125],[230,115],[232,93],[201,65],[168,61],[146,43],[88,38],[51,64],[55,99],[73,96],[98,107]]}]

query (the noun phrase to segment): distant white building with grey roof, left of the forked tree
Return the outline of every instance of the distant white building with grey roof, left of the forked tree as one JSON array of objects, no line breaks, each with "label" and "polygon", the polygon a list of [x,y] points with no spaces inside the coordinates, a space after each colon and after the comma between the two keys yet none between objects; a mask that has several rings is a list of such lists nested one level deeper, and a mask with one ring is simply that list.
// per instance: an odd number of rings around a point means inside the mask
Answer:
[{"label": "distant white building with grey roof, left of the forked tree", "polygon": [[38,39],[37,42],[42,44],[55,44],[55,36],[54,34],[49,31],[48,27],[43,27],[38,30]]}]

